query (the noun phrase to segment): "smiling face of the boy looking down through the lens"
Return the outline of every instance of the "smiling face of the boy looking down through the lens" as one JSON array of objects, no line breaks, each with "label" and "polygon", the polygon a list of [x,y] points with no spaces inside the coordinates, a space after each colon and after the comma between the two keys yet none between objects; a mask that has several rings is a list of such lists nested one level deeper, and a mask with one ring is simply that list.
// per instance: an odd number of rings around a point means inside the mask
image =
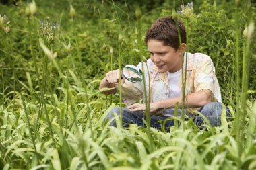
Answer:
[{"label": "smiling face of the boy looking down through the lens", "polygon": [[148,40],[148,51],[150,59],[161,73],[169,71],[176,72],[182,67],[181,50],[174,50],[171,46],[164,46],[162,41],[150,39]]}]

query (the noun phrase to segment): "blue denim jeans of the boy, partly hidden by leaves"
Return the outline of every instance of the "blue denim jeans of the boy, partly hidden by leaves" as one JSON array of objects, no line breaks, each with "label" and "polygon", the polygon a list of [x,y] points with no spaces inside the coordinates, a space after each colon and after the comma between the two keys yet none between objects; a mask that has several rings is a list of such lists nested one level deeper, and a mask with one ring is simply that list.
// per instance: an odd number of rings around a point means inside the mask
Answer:
[{"label": "blue denim jeans of the boy, partly hidden by leaves", "polygon": [[[143,119],[146,120],[146,116],[141,111],[131,112],[128,108],[122,108],[123,112],[123,127],[128,128],[129,124],[137,124],[138,126],[146,127],[146,124],[144,124]],[[199,112],[203,114],[207,120],[209,120],[210,124],[212,126],[219,126],[221,124],[220,116],[222,113],[222,103],[218,102],[212,102],[207,103],[203,107],[199,109]],[[110,126],[117,126],[114,118],[114,113],[117,114],[117,116],[120,116],[120,108],[115,107],[104,118],[104,121],[110,120]],[[229,110],[227,108],[226,115],[229,116]],[[201,116],[195,116],[193,119],[193,122],[197,126],[201,126],[204,122],[203,118]],[[164,129],[169,132],[170,126],[174,126],[174,120],[170,118],[169,116],[151,116],[150,120],[150,126],[153,128],[162,130],[163,126]]]}]

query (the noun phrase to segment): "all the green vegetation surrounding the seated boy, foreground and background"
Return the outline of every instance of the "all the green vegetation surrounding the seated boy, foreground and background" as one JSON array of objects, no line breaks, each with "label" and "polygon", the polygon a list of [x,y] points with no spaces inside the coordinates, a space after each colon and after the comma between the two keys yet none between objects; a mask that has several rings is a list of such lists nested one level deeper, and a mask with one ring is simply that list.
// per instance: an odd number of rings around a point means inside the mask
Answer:
[{"label": "all the green vegetation surrounding the seated boy, foreground and background", "polygon": [[[256,169],[255,11],[247,0],[0,3],[0,169]],[[212,58],[230,118],[108,126],[124,103],[100,80],[149,58],[146,30],[170,15],[187,51]]]}]

